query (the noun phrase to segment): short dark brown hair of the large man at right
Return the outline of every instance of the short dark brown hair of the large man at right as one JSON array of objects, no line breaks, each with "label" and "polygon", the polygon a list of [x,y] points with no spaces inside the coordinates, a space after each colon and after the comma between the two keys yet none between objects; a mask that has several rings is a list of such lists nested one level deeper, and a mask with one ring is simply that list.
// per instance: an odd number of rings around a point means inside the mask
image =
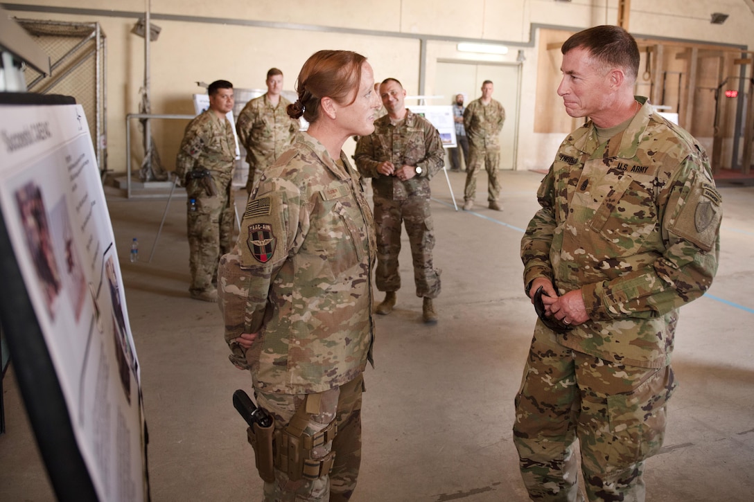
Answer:
[{"label": "short dark brown hair of the large man at right", "polygon": [[605,66],[621,68],[636,81],[639,75],[639,47],[629,32],[620,26],[594,26],[571,35],[560,47],[562,54],[584,47],[591,56]]}]

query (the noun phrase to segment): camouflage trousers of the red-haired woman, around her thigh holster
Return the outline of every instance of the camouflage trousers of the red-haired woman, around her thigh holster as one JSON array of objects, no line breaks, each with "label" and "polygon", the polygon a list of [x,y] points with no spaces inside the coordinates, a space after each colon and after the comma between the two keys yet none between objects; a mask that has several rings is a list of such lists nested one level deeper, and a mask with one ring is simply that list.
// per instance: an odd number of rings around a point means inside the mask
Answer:
[{"label": "camouflage trousers of the red-haired woman, around her thigh holster", "polygon": [[[322,393],[320,414],[309,415],[304,434],[314,435],[336,420],[335,439],[312,450],[312,457],[323,458],[335,451],[329,476],[291,481],[287,473],[275,469],[275,481],[265,482],[265,502],[339,502],[354,494],[361,466],[361,394],[363,373],[335,389]],[[265,393],[256,390],[257,404],[274,415],[275,428],[284,429],[305,404],[305,394]]]}]

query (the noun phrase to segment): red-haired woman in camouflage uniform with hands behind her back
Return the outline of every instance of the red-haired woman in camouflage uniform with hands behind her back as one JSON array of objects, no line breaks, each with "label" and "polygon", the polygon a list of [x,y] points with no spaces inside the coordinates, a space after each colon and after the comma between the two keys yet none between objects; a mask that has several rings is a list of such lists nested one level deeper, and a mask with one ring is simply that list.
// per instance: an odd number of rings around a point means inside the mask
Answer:
[{"label": "red-haired woman in camouflage uniform with hands behind her back", "polygon": [[274,418],[277,456],[260,466],[260,475],[274,470],[262,478],[267,502],[342,502],[356,487],[375,235],[342,146],[374,130],[373,86],[360,54],[309,57],[288,107],[308,131],[262,173],[220,263],[231,363],[250,369],[257,403]]}]

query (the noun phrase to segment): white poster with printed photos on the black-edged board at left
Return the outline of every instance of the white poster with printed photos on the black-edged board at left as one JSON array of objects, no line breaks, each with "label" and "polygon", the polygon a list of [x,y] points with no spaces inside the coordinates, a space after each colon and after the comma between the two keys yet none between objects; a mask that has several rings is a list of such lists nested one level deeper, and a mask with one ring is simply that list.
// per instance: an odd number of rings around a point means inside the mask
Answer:
[{"label": "white poster with printed photos on the black-edged board at left", "polygon": [[145,500],[139,362],[83,109],[0,106],[0,124],[2,217],[81,457],[100,500]]}]

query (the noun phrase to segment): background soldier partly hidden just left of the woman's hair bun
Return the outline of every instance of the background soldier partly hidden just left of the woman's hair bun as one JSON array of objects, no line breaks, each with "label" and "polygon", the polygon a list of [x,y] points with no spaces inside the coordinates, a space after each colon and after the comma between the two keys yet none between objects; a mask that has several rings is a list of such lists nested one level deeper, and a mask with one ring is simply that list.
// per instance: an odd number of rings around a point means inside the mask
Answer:
[{"label": "background soldier partly hidden just left of the woman's hair bun", "polygon": [[251,99],[238,114],[236,132],[246,148],[249,178],[246,191],[251,193],[256,173],[265,169],[290,148],[299,130],[299,121],[288,116],[290,101],[282,96],[283,72],[271,68],[267,72],[267,92]]}]

